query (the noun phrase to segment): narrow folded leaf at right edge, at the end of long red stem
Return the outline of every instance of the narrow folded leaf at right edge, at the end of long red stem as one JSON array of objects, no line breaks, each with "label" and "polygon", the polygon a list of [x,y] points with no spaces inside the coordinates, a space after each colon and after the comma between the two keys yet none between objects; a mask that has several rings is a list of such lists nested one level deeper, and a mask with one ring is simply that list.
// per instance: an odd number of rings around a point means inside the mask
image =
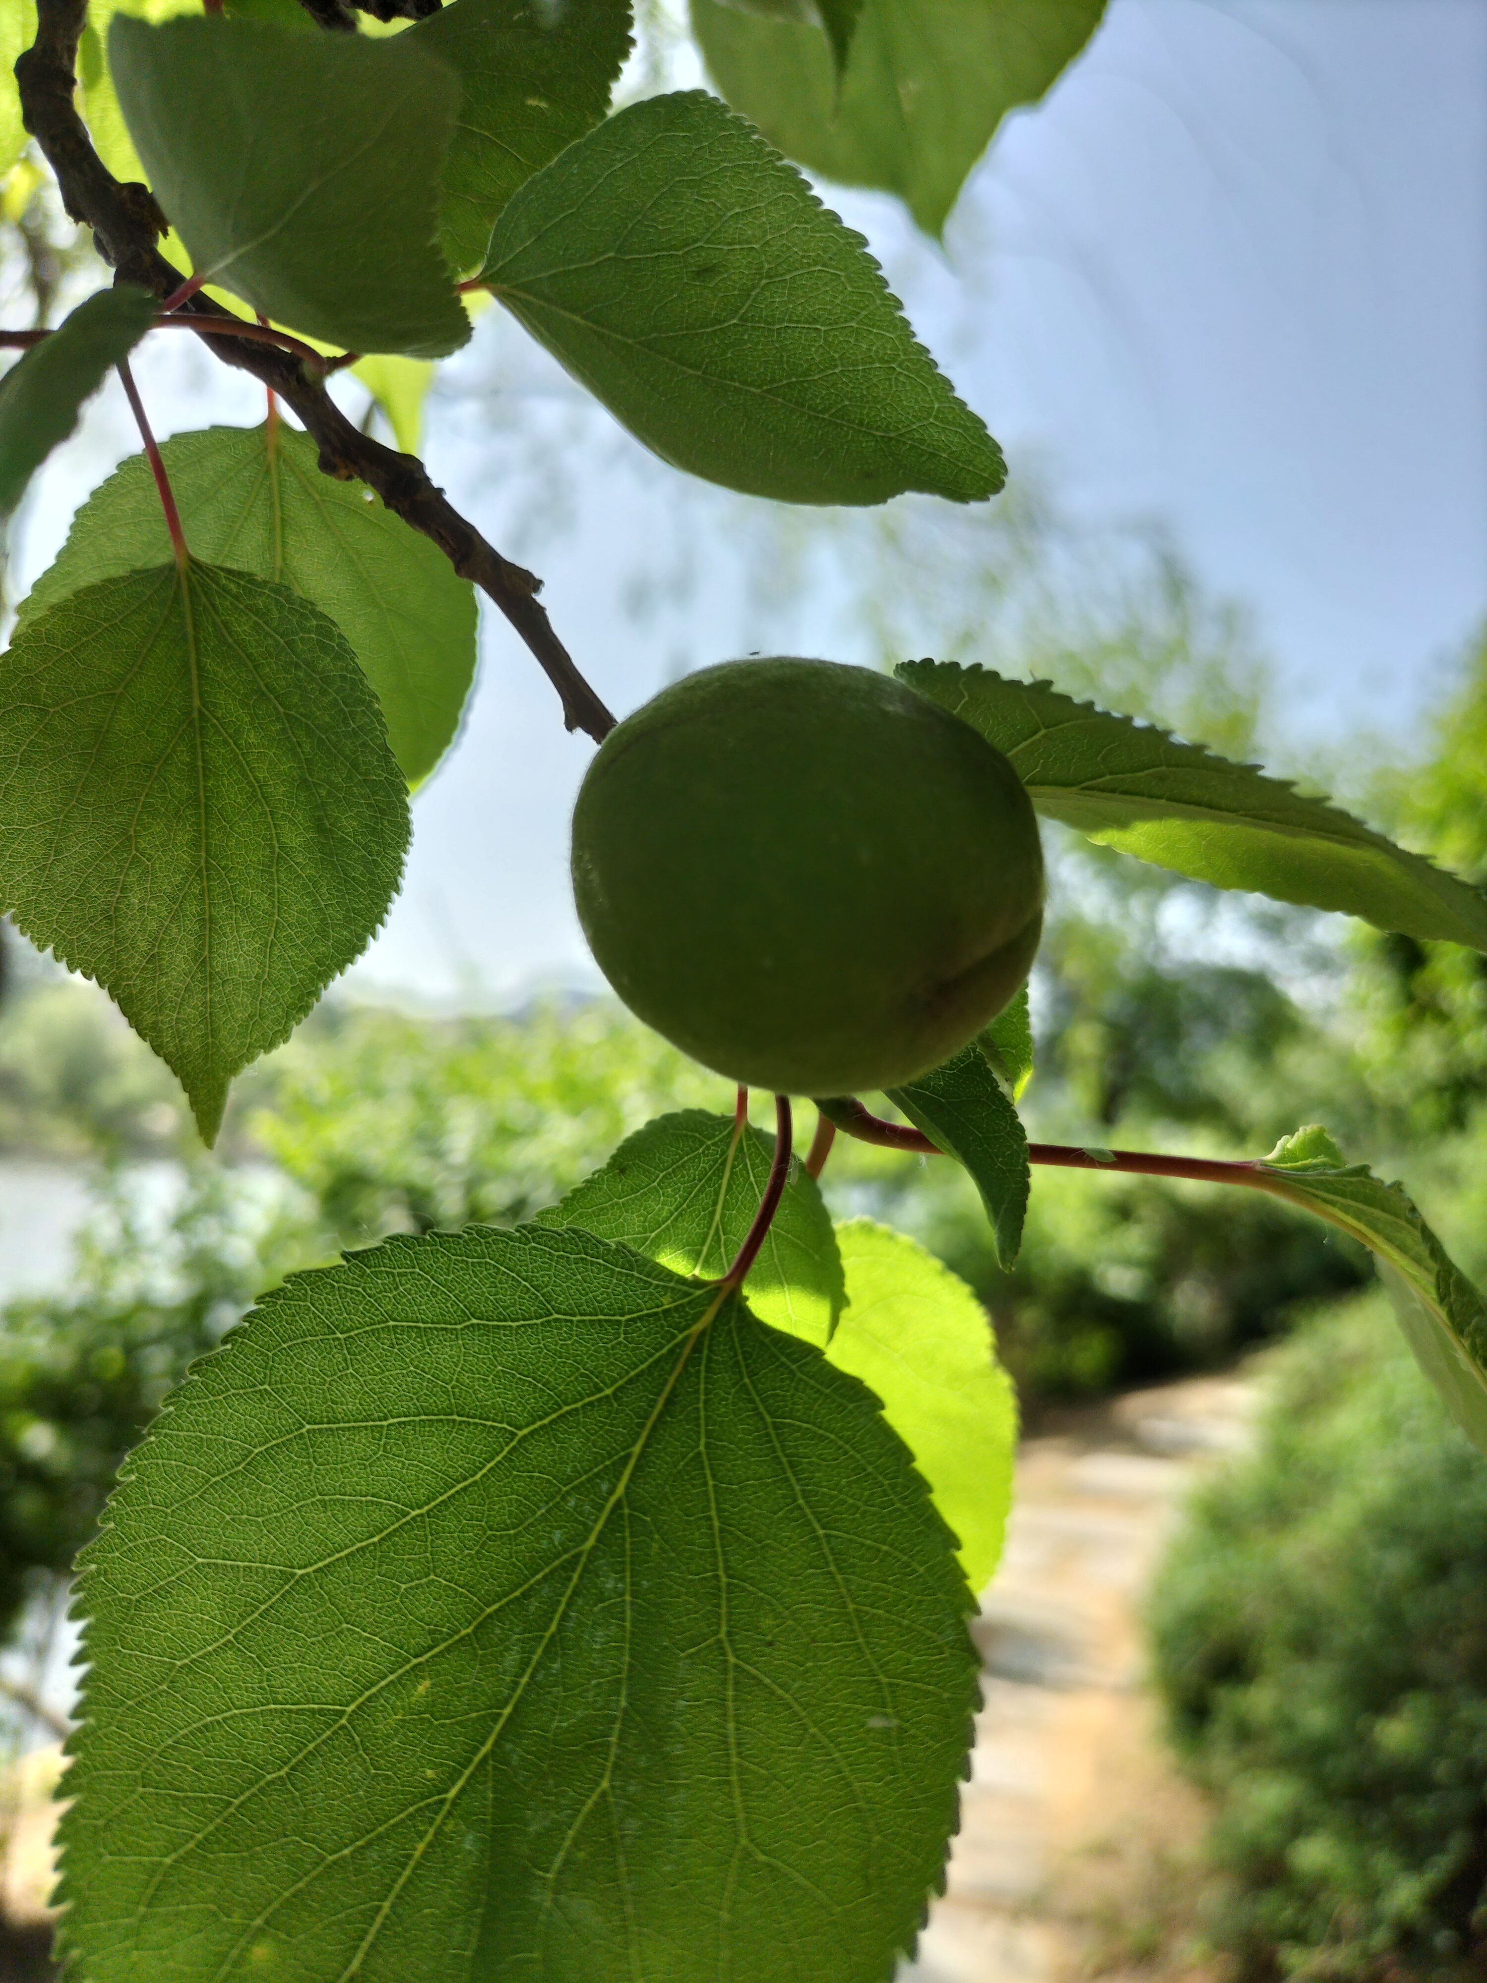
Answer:
[{"label": "narrow folded leaf at right edge, at the end of long red stem", "polygon": [[1318,1124],[1283,1138],[1255,1170],[1261,1188],[1360,1239],[1378,1261],[1400,1329],[1451,1418],[1487,1454],[1487,1301],[1447,1255],[1400,1184],[1342,1164]]}]

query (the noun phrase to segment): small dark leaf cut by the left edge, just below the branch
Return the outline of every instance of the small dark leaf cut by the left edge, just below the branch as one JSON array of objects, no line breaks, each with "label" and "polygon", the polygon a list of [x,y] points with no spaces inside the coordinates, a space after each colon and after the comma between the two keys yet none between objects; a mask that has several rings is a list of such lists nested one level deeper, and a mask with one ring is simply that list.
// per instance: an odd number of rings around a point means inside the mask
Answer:
[{"label": "small dark leaf cut by the left edge, just below the branch", "polygon": [[147,290],[99,290],[0,379],[0,516],[73,432],[83,401],[129,357],[159,307]]}]

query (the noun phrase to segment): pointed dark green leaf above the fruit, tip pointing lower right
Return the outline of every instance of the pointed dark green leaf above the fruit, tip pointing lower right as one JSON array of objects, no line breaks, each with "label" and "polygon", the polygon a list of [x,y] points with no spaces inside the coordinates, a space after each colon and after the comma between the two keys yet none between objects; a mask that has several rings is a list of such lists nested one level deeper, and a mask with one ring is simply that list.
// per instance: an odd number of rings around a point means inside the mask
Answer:
[{"label": "pointed dark green leaf above the fruit, tip pointing lower right", "polygon": [[973,502],[997,444],[860,236],[700,89],[599,125],[510,200],[482,270],[662,460],[781,502]]}]

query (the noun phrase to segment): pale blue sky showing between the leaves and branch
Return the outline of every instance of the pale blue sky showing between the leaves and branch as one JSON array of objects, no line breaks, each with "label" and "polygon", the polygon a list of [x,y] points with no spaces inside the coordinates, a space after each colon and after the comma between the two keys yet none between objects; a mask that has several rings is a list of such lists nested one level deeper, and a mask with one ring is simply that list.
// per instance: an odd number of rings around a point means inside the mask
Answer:
[{"label": "pale blue sky showing between the leaves and branch", "polygon": [[[1209,587],[1251,603],[1309,734],[1410,736],[1487,611],[1487,0],[1112,0],[973,175],[944,254],[888,200],[827,196],[1013,474],[1045,464],[1094,522],[1164,520]],[[682,666],[757,646],[730,506],[644,458],[494,319],[448,371],[430,466],[543,573],[607,700],[625,712]],[[178,343],[141,377],[163,430],[258,418],[254,389]],[[533,500],[517,474],[533,434],[577,440],[581,494],[539,470]],[[127,446],[101,403],[48,470],[22,573]],[[627,581],[636,561],[664,571],[672,541],[706,571],[636,625]],[[803,611],[801,642],[815,633]],[[365,990],[587,976],[565,825],[589,750],[492,619]]]}]

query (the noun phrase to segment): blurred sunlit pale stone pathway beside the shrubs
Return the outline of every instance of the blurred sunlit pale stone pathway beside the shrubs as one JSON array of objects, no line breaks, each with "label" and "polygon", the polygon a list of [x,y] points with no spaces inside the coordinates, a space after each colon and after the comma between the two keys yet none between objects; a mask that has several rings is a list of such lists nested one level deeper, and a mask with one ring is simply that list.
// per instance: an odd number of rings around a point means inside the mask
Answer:
[{"label": "blurred sunlit pale stone pathway beside the shrubs", "polygon": [[[1088,1933],[1057,1886],[1071,1862],[1085,1882],[1079,1854],[1128,1828],[1154,1783],[1186,1797],[1150,1731],[1140,1600],[1182,1493],[1243,1446],[1255,1396],[1245,1380],[1190,1378],[1071,1412],[1023,1444],[1007,1549],[973,1624],[985,1705],[960,1836],[900,1983],[1112,1977],[1090,1967]],[[57,1761],[56,1749],[36,1751],[0,1791],[0,1906],[28,1935],[48,1920]],[[1122,1882],[1116,1866],[1116,1910]],[[24,1965],[40,1947],[22,1943],[14,1955],[0,1945],[0,1983],[46,1973]],[[1138,1971],[1124,1977],[1136,1983]]]}]

